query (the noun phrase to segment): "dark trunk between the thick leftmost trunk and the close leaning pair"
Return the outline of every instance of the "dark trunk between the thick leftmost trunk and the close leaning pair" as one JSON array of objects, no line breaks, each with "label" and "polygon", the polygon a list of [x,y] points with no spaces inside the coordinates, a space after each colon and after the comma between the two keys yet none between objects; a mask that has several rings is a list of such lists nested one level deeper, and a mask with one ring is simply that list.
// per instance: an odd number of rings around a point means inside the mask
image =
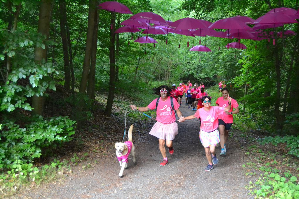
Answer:
[{"label": "dark trunk between the thick leftmost trunk and the close leaning pair", "polygon": [[63,60],[64,60],[64,88],[69,90],[71,85],[70,61],[68,59],[68,40],[66,36],[66,10],[65,0],[59,0],[60,12],[60,35],[62,39]]}]

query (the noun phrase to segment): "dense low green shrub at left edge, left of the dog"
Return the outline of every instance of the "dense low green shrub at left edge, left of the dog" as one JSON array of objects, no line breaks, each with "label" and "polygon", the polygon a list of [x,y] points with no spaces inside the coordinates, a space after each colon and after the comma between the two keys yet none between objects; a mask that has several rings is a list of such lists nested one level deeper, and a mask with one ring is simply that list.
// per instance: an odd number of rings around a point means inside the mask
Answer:
[{"label": "dense low green shrub at left edge, left of the dog", "polygon": [[19,177],[34,175],[33,159],[42,155],[44,147],[57,147],[70,141],[75,133],[75,121],[68,117],[44,119],[42,116],[28,118],[24,127],[13,121],[2,121],[0,140],[0,168],[8,174]]}]

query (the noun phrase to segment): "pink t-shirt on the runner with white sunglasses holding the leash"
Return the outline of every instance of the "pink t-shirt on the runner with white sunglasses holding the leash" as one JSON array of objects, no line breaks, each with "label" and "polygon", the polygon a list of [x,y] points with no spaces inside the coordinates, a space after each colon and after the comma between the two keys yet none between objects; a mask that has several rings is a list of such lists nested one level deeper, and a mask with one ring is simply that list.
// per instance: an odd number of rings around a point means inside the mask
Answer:
[{"label": "pink t-shirt on the runner with white sunglasses holding the leash", "polygon": [[[155,109],[156,108],[156,102],[157,99],[154,99],[149,105],[149,109]],[[175,110],[177,110],[180,105],[176,100],[173,100],[173,107]],[[167,100],[162,101],[161,98],[158,103],[157,107],[157,118],[156,120],[158,122],[161,122],[163,124],[171,124],[176,121],[176,116],[174,114],[174,111],[171,110],[171,103],[170,103],[170,97],[167,97]]]}]

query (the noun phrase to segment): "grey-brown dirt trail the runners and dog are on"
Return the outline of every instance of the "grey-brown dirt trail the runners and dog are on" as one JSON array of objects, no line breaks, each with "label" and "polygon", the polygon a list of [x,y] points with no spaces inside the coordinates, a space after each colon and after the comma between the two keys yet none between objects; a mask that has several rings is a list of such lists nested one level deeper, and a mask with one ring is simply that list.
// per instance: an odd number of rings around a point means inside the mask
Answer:
[{"label": "grey-brown dirt trail the runners and dog are on", "polygon": [[[185,105],[180,109],[184,116],[195,113]],[[164,167],[159,166],[162,156],[158,140],[148,132],[138,133],[136,128],[136,164],[129,159],[123,178],[118,178],[120,166],[111,146],[110,158],[99,159],[93,168],[82,171],[77,166],[71,175],[22,191],[14,198],[254,198],[245,189],[249,183],[242,168],[246,160],[241,146],[245,141],[237,138],[238,132],[229,139],[225,157],[220,157],[220,147],[216,148],[219,163],[205,172],[207,160],[199,141],[199,120],[179,123],[174,154],[167,152],[169,164]]]}]

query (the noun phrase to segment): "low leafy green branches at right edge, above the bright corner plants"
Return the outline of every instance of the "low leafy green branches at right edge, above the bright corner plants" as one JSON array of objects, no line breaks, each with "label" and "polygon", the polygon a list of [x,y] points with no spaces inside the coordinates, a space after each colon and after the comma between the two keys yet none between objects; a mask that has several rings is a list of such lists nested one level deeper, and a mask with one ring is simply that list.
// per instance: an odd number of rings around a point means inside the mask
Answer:
[{"label": "low leafy green branches at right edge, above the bright corner plants", "polygon": [[265,138],[259,138],[258,139],[260,144],[273,144],[274,146],[277,146],[279,143],[286,143],[286,147],[289,148],[288,154],[294,155],[296,157],[299,157],[299,136],[293,136],[293,135],[285,135],[283,137],[281,136],[275,136],[275,137],[265,137]]}]

